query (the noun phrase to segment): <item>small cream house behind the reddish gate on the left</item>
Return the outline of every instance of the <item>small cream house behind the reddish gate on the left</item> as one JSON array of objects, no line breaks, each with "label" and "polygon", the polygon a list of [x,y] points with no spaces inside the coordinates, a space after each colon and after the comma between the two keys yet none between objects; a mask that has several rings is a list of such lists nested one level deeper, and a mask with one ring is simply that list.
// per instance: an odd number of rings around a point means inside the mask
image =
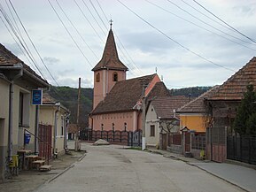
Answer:
[{"label": "small cream house behind the reddish gate on the left", "polygon": [[[55,101],[48,93],[43,93],[43,105],[40,105],[39,122],[40,127],[50,128],[51,132],[51,154],[53,157],[65,153],[66,146],[66,127],[69,119],[70,111],[59,102]],[[47,125],[48,127],[43,127]],[[41,130],[39,130],[40,132]],[[42,132],[42,134],[45,132]],[[42,135],[47,140],[47,135]],[[43,145],[43,143],[42,143]],[[42,148],[43,150],[43,148]],[[45,154],[44,151],[39,150],[39,154]],[[46,152],[47,153],[47,152]],[[47,155],[47,154],[46,154]]]}]

